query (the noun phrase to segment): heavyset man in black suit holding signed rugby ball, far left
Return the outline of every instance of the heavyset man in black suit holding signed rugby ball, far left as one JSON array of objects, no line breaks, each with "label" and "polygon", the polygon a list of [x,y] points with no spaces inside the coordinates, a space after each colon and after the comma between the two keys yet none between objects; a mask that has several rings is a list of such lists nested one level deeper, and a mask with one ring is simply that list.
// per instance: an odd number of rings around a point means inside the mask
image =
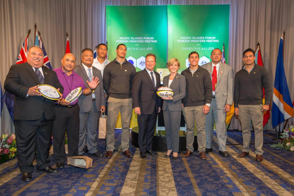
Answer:
[{"label": "heavyset man in black suit holding signed rugby ball, far left", "polygon": [[36,86],[48,84],[61,93],[63,93],[63,87],[56,73],[43,66],[43,63],[42,49],[39,46],[32,46],[28,51],[27,62],[11,66],[4,82],[5,90],[15,95],[14,125],[17,161],[23,181],[32,180],[35,147],[37,148],[37,172],[58,172],[57,169],[49,166],[51,132],[56,115],[55,102],[41,96],[41,93],[36,91],[40,88]]}]

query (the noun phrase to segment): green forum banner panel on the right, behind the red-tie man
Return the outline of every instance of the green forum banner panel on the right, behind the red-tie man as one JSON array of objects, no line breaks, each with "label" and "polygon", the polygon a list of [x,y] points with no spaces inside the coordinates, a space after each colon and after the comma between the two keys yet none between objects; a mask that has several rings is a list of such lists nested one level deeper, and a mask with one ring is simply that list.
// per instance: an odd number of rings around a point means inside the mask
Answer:
[{"label": "green forum banner panel on the right, behind the red-tie man", "polygon": [[228,63],[230,5],[168,5],[168,59],[189,66],[188,55],[199,53],[199,65],[211,61],[211,51],[222,51]]}]

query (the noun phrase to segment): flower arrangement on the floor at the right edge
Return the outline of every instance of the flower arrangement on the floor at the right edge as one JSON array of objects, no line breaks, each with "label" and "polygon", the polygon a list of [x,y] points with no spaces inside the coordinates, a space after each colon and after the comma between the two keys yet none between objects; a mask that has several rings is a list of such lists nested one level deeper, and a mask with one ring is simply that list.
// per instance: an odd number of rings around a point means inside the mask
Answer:
[{"label": "flower arrangement on the floor at the right edge", "polygon": [[286,149],[291,152],[294,151],[294,124],[292,122],[291,125],[288,125],[288,128],[281,133],[280,135],[281,141],[278,144],[270,145],[272,148],[277,149]]}]

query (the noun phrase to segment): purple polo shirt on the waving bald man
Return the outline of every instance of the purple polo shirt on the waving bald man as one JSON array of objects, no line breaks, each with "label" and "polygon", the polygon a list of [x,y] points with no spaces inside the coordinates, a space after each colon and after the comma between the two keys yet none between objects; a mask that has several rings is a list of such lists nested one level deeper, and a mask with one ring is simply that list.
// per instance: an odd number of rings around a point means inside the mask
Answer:
[{"label": "purple polo shirt on the waving bald man", "polygon": [[[53,71],[56,72],[59,82],[64,88],[63,97],[66,97],[75,88],[82,87],[82,90],[87,88],[83,81],[83,78],[79,76],[76,72],[74,72],[74,70],[69,76],[61,69],[61,67],[56,68]],[[76,103],[78,103],[78,99],[70,103],[69,105],[74,105]]]}]

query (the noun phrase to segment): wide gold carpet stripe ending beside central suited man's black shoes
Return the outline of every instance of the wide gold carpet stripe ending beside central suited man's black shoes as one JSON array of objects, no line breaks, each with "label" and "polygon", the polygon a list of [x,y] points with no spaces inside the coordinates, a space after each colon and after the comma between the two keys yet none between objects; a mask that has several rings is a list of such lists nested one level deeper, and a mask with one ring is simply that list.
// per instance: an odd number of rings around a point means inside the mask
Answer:
[{"label": "wide gold carpet stripe ending beside central suited man's black shoes", "polygon": [[[135,195],[137,180],[138,180],[140,166],[141,166],[141,160],[142,158],[140,157],[140,150],[139,148],[137,148],[134,154],[133,160],[131,162],[131,165],[129,167],[125,182],[123,183],[123,187],[121,189],[120,195],[130,195],[130,196]],[[143,184],[141,184],[140,186],[143,186]],[[143,190],[143,187],[142,187],[142,190]]]}]

